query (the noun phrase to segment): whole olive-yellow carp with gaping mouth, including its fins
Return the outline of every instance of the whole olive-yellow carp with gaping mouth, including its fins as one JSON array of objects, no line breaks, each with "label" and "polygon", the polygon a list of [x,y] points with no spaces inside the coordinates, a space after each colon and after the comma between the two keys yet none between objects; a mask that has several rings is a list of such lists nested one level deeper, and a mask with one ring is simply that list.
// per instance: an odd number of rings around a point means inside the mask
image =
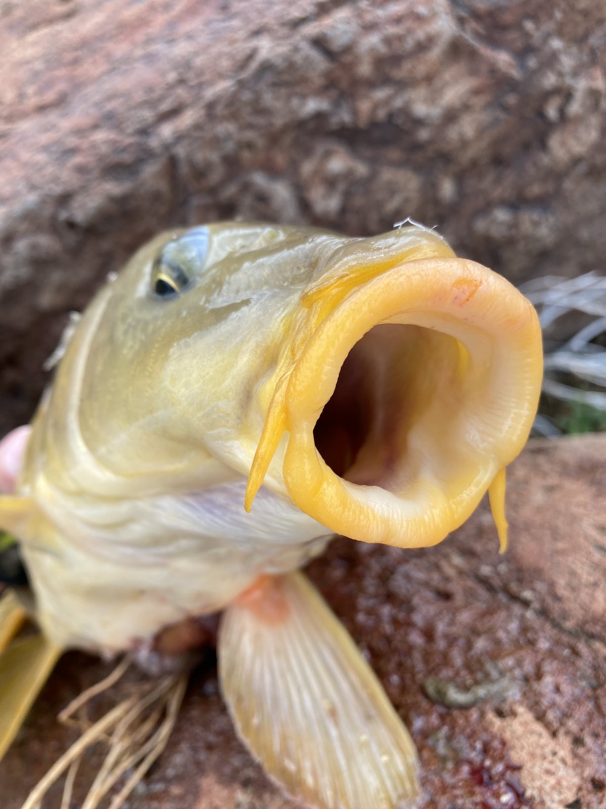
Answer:
[{"label": "whole olive-yellow carp with gaping mouth, including its fins", "polygon": [[62,650],[145,665],[224,611],[221,689],[267,773],[322,809],[414,806],[406,728],[297,570],[335,533],[436,544],[487,490],[505,547],[541,388],[530,303],[423,227],[221,222],[141,248],[62,353],[0,498],[40,626],[0,658],[0,755]]}]

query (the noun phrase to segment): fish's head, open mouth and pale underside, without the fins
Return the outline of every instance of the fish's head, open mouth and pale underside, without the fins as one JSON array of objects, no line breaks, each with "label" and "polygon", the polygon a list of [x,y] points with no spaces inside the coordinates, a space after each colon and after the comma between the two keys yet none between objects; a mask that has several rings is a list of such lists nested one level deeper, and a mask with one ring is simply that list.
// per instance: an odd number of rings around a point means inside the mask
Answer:
[{"label": "fish's head, open mouth and pale underside, without the fins", "polygon": [[438,542],[520,451],[540,382],[532,306],[433,232],[159,235],[90,304],[33,424],[17,533],[40,624],[113,652],[333,532]]}]

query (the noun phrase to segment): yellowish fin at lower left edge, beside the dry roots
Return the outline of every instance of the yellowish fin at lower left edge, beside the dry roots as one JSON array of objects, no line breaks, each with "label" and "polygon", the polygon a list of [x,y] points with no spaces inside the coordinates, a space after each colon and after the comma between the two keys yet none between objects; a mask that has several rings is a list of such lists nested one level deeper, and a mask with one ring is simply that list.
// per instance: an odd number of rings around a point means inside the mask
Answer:
[{"label": "yellowish fin at lower left edge, beside the dry roots", "polygon": [[15,641],[0,655],[0,759],[61,655],[43,635]]}]

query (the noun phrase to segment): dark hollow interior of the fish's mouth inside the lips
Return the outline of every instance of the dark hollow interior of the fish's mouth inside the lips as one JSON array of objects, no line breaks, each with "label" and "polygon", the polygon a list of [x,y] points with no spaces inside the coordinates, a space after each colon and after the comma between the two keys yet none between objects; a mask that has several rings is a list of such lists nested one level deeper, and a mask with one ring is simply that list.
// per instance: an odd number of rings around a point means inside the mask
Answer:
[{"label": "dark hollow interior of the fish's mouth inside the lips", "polygon": [[465,347],[444,332],[375,326],[343,362],[314,428],[316,449],[339,477],[402,496],[448,457],[468,367]]}]

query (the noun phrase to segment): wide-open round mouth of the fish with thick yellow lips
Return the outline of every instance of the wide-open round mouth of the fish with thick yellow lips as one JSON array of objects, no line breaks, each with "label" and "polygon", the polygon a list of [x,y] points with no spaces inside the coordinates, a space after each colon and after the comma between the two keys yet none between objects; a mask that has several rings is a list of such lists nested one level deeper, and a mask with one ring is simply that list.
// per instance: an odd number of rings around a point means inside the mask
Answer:
[{"label": "wide-open round mouth of the fish with thick yellow lips", "polygon": [[405,260],[347,290],[315,328],[281,379],[267,444],[288,431],[288,495],[334,532],[436,544],[490,489],[503,548],[504,469],[528,438],[541,375],[536,312],[503,277],[452,255]]}]

